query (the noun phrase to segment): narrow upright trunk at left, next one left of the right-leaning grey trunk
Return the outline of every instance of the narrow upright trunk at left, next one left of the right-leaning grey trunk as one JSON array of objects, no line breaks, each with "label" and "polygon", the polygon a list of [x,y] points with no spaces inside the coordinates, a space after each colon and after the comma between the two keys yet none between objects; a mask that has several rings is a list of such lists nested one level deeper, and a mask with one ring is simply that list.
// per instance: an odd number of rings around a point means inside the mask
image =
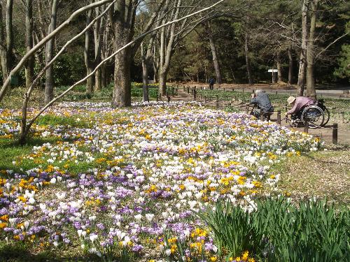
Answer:
[{"label": "narrow upright trunk at left, next one left of the right-leaning grey trunk", "polygon": [[[33,48],[33,0],[26,0],[25,45],[27,52]],[[30,87],[34,77],[34,56],[29,57],[25,67],[25,86]]]}]

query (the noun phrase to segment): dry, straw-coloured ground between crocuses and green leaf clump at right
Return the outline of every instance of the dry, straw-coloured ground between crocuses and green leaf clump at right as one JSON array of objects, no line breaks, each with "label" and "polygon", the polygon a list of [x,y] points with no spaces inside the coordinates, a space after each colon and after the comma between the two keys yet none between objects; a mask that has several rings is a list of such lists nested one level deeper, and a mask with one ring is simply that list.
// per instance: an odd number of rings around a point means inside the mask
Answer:
[{"label": "dry, straw-coloured ground between crocuses and green leaf clump at right", "polygon": [[295,200],[316,196],[339,205],[350,203],[349,147],[293,157],[274,169],[281,174],[279,189]]}]

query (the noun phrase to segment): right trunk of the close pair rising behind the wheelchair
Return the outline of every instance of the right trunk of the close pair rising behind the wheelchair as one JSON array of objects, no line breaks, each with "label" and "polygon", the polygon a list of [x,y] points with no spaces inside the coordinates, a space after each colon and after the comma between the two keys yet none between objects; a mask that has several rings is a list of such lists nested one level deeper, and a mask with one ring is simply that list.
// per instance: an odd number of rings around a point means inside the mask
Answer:
[{"label": "right trunk of the close pair rising behind the wheelchair", "polygon": [[311,1],[311,18],[310,18],[310,34],[309,43],[307,45],[307,96],[316,99],[314,63],[315,63],[315,29],[316,29],[316,11],[318,1]]}]

